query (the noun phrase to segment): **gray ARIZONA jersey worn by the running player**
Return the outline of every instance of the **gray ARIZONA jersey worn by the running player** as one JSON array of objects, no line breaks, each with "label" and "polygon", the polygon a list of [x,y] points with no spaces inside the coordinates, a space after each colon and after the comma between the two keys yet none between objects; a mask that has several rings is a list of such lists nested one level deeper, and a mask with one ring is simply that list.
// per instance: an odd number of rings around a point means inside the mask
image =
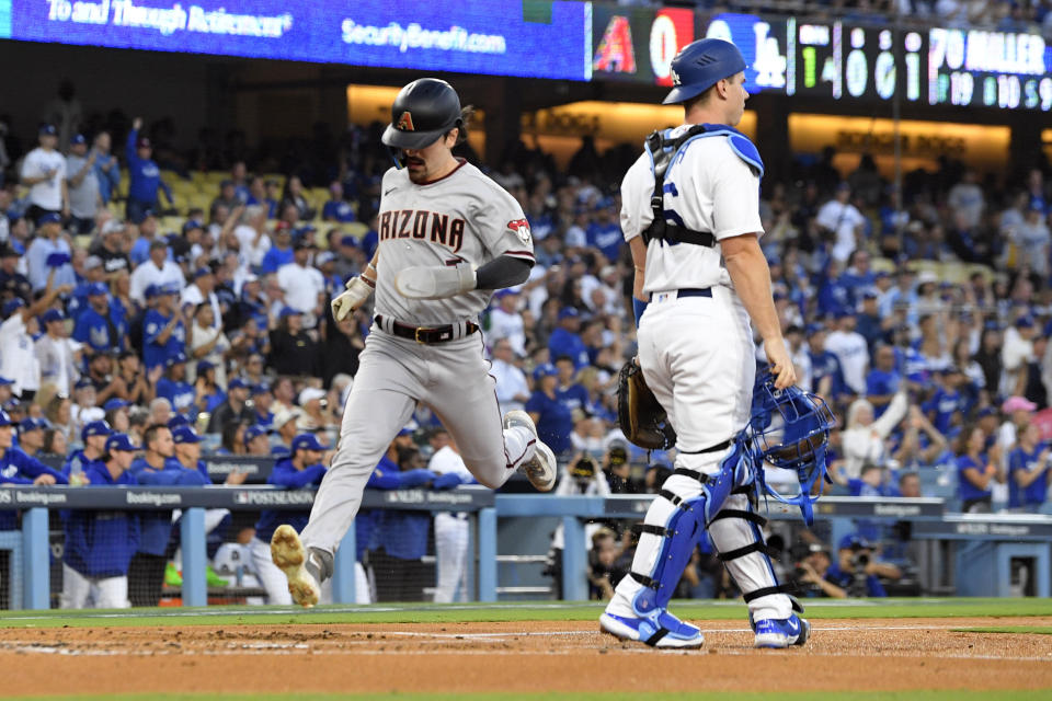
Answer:
[{"label": "gray ARIZONA jersey worn by the running player", "polygon": [[414,184],[404,169],[384,174],[378,221],[376,313],[419,326],[478,321],[492,290],[447,299],[408,299],[395,276],[414,265],[481,267],[511,255],[533,263],[534,242],[518,202],[465,161],[450,174]]}]

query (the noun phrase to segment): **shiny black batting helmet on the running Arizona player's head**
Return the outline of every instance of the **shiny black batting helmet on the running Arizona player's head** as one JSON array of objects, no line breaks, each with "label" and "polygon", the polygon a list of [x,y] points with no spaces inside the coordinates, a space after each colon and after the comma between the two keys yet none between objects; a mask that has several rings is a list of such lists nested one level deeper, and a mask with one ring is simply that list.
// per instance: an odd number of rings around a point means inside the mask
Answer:
[{"label": "shiny black batting helmet on the running Arizona player's head", "polygon": [[422,149],[460,125],[460,97],[453,85],[421,78],[398,92],[381,140],[392,148]]}]

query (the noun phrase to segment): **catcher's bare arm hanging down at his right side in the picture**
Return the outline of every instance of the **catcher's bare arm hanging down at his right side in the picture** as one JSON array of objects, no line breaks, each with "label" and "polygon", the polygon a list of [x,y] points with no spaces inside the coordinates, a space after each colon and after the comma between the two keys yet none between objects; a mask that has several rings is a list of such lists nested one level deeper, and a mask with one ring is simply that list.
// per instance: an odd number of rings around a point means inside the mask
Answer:
[{"label": "catcher's bare arm hanging down at his right side in the picture", "polygon": [[754,233],[731,237],[720,241],[723,264],[734,283],[734,290],[764,340],[764,350],[771,372],[778,378],[775,386],[785,389],[797,382],[792,359],[781,337],[781,324],[770,292],[770,268]]}]

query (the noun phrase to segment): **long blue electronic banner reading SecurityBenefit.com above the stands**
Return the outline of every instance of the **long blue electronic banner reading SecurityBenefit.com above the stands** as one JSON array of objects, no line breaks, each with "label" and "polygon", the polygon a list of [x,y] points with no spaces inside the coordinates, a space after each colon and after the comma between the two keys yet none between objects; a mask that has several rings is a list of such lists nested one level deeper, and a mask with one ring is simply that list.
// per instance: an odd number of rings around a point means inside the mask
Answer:
[{"label": "long blue electronic banner reading SecurityBenefit.com above the stands", "polygon": [[587,80],[588,11],[537,0],[0,0],[0,38]]}]

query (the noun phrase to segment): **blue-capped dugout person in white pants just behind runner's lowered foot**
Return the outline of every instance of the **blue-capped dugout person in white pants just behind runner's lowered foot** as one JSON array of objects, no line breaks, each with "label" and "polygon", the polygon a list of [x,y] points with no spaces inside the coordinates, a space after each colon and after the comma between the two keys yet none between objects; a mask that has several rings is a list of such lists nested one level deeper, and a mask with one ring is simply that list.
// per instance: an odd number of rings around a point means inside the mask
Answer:
[{"label": "blue-capped dugout person in white pants just behind runner's lowered foot", "polygon": [[[290,455],[277,461],[266,483],[286,490],[318,486],[325,476],[325,466],[322,464],[321,457],[328,449],[329,447],[319,443],[313,434],[299,434],[293,439]],[[266,589],[268,604],[289,606],[293,602],[293,597],[288,593],[288,581],[271,561],[271,537],[283,524],[288,524],[296,529],[296,532],[300,532],[309,519],[309,503],[306,508],[298,510],[264,509],[260,513],[260,520],[255,524],[255,538],[252,539],[249,548],[260,583]]]}]

